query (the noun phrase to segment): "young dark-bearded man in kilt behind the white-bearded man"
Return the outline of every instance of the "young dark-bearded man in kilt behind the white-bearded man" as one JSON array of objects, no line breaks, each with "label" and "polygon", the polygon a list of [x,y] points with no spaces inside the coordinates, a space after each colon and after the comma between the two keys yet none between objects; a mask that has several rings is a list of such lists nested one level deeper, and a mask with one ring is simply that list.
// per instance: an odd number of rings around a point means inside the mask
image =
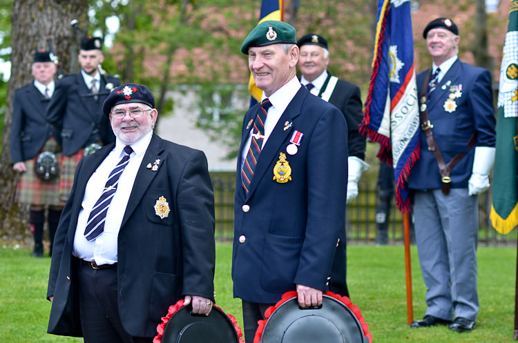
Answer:
[{"label": "young dark-bearded man in kilt behind the white-bearded man", "polygon": [[[102,39],[82,37],[79,56],[81,72],[67,75],[57,82],[55,96],[47,108],[47,120],[61,131],[63,161],[60,197],[66,202],[73,185],[74,170],[84,155],[115,141],[110,123],[102,115],[102,104],[110,91],[119,86],[117,77],[104,75],[100,64]],[[86,151],[85,151],[86,150]]]}]

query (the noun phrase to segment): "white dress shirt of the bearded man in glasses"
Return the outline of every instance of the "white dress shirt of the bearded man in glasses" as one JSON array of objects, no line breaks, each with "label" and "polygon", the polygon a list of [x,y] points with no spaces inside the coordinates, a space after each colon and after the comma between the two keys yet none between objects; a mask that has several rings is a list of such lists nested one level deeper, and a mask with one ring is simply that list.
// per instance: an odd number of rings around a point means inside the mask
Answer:
[{"label": "white dress shirt of the bearded man in glasses", "polygon": [[86,261],[95,260],[97,264],[114,264],[117,262],[117,237],[122,224],[122,218],[124,213],[126,213],[126,206],[128,205],[131,190],[133,190],[135,177],[152,136],[153,132],[150,132],[134,144],[131,144],[133,153],[131,153],[128,164],[119,177],[117,191],[113,195],[111,204],[106,212],[104,231],[90,242],[84,236],[88,216],[97,199],[101,196],[111,171],[124,157],[123,150],[125,145],[119,139],[115,142],[115,148],[111,150],[111,153],[108,154],[106,159],[102,161],[90,179],[88,179],[75,229],[74,256]]}]

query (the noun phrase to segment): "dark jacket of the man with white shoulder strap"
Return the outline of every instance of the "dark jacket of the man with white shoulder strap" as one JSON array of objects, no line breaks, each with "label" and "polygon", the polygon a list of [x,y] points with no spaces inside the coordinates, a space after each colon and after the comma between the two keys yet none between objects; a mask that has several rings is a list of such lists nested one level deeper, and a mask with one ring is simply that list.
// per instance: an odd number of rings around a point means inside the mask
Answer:
[{"label": "dark jacket of the man with white shoulder strap", "polygon": [[366,139],[359,132],[360,123],[363,119],[360,88],[349,81],[338,79],[329,98],[329,103],[336,106],[347,121],[347,148],[349,149],[349,156],[365,159]]}]

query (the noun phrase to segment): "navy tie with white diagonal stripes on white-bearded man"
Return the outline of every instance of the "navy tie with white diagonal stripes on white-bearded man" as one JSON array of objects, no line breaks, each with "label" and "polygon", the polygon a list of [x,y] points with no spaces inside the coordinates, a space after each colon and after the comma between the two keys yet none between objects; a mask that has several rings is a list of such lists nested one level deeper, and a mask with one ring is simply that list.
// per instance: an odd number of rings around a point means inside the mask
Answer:
[{"label": "navy tie with white diagonal stripes on white-bearded man", "polygon": [[86,240],[92,241],[104,231],[104,220],[106,219],[106,212],[108,212],[111,199],[113,199],[113,195],[115,195],[115,192],[117,191],[119,177],[128,164],[129,155],[131,155],[132,152],[133,149],[131,146],[124,146],[124,157],[122,157],[117,166],[115,166],[115,168],[113,168],[111,171],[101,196],[93,206],[92,211],[88,216],[88,222],[86,222],[86,229],[84,231]]}]

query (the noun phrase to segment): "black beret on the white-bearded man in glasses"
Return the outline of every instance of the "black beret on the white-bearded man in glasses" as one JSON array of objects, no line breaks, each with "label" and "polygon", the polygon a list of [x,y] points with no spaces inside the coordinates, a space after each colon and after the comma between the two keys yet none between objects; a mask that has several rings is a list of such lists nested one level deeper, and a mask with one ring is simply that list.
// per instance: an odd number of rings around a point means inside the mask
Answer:
[{"label": "black beret on the white-bearded man in glasses", "polygon": [[155,96],[146,86],[137,84],[124,84],[113,88],[110,95],[102,104],[102,112],[106,117],[110,116],[113,106],[138,102],[155,108]]}]

